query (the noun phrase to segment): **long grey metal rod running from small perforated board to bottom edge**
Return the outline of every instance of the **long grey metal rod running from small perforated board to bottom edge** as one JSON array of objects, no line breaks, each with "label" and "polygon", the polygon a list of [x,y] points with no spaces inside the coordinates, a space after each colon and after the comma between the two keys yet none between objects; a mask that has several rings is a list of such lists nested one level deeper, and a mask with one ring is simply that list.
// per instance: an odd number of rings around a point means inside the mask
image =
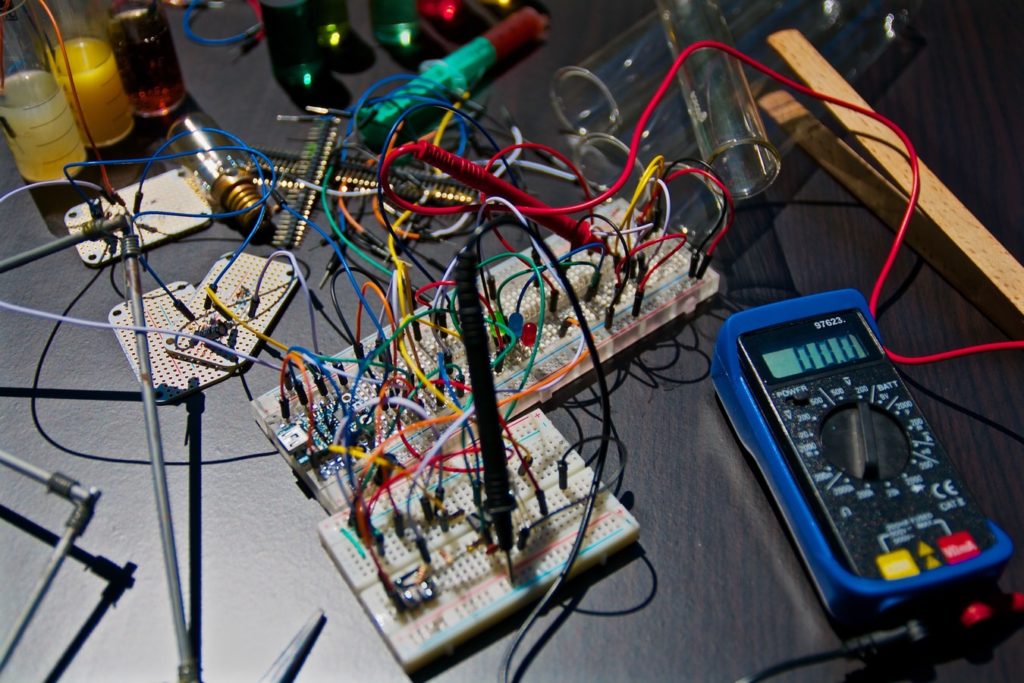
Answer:
[{"label": "long grey metal rod running from small perforated board to bottom edge", "polygon": [[[125,276],[129,293],[128,303],[131,307],[132,318],[136,325],[141,325],[145,321],[145,312],[142,308],[142,284],[138,267],[140,247],[137,234],[129,233],[122,238],[121,253],[124,254]],[[181,577],[178,573],[178,554],[174,545],[174,523],[167,489],[164,446],[160,438],[160,421],[157,418],[157,397],[153,388],[150,340],[146,333],[135,333],[135,352],[138,355],[138,378],[142,389],[142,415],[145,420],[146,445],[150,450],[153,489],[157,499],[157,516],[160,518],[160,541],[164,549],[164,570],[167,574],[167,590],[171,598],[174,636],[178,645],[178,680],[198,681],[199,672],[196,671],[196,658],[193,654],[191,641],[188,638],[188,629],[185,626]]]}]

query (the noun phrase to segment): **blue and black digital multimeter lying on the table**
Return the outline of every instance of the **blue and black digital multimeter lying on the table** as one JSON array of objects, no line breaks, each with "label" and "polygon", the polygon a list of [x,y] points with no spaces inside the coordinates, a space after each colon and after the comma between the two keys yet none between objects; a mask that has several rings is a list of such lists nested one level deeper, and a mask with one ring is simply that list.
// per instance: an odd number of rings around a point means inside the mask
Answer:
[{"label": "blue and black digital multimeter lying on the table", "polygon": [[1013,545],[971,500],[860,293],[731,315],[712,378],[840,622],[998,578]]}]

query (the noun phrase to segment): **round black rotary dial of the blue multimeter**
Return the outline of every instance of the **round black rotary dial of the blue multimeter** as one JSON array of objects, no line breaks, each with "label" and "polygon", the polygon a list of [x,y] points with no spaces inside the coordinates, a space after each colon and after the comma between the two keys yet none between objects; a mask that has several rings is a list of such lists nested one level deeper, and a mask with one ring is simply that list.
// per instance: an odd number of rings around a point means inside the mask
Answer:
[{"label": "round black rotary dial of the blue multimeter", "polygon": [[820,437],[825,460],[857,479],[891,479],[910,459],[910,443],[900,423],[866,400],[837,407],[822,421]]}]

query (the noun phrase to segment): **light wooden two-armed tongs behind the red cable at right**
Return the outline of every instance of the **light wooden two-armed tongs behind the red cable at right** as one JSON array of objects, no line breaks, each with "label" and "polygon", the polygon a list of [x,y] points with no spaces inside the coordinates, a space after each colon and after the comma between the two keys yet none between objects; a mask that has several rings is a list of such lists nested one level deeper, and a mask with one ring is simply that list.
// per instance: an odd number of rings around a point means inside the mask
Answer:
[{"label": "light wooden two-armed tongs behind the red cable at right", "polygon": [[[869,109],[799,31],[772,34],[768,44],[811,88]],[[906,208],[910,169],[892,131],[826,103],[887,178],[787,93],[771,92],[759,101],[822,168],[895,229]],[[919,164],[921,197],[907,243],[1007,335],[1024,337],[1024,267],[920,159]]]}]

